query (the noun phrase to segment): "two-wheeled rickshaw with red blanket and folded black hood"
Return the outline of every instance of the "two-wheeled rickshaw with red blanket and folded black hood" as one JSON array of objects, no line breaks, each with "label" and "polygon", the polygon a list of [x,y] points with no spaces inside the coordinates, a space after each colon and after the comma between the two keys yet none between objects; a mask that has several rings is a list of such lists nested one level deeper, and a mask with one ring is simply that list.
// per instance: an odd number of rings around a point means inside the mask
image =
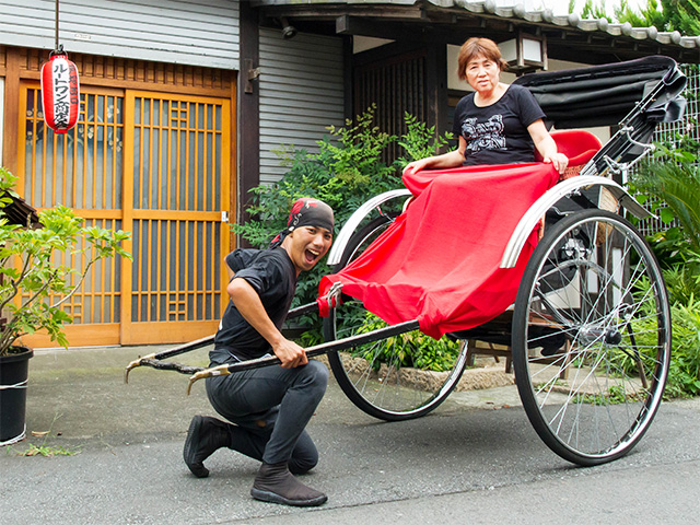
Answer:
[{"label": "two-wheeled rickshaw with red blanket and folded black hood", "polygon": [[[660,122],[679,120],[686,77],[667,57],[532,73],[528,88],[570,159],[558,177],[542,163],[471,166],[404,177],[342,226],[319,299],[290,311],[324,317],[337,382],[386,421],[434,410],[458,385],[467,340],[512,352],[523,407],[559,456],[593,466],[627,454],[662,401],[670,312],[662,270],[625,215],[650,212],[627,191]],[[581,128],[617,126],[602,145]],[[505,198],[510,194],[514,198]],[[635,218],[635,219],[634,219]],[[164,361],[206,337],[127,366],[212,375],[279,363],[260,358],[202,370]],[[438,355],[443,371],[421,370]]]}]

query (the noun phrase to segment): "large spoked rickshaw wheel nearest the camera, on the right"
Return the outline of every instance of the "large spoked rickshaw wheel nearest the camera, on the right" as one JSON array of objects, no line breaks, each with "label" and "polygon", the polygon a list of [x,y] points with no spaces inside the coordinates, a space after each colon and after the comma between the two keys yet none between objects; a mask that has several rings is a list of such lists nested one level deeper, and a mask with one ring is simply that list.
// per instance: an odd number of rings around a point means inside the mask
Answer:
[{"label": "large spoked rickshaw wheel nearest the camera, on the right", "polygon": [[512,334],[518,393],[542,441],[582,466],[627,454],[661,404],[670,331],[661,269],[630,222],[594,209],[551,226]]}]

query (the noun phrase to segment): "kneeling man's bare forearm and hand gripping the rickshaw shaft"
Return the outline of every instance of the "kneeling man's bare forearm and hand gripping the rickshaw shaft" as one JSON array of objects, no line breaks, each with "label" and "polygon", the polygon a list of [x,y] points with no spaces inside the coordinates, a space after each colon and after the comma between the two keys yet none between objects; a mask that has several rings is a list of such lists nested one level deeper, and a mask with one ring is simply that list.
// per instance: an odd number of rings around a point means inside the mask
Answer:
[{"label": "kneeling man's bare forearm and hand gripping the rickshaw shaft", "polygon": [[258,334],[272,347],[275,355],[282,361],[283,369],[293,369],[308,363],[306,352],[294,341],[290,341],[277,329],[270,316],[267,315],[260,296],[245,279],[233,279],[226,288],[233,304]]}]

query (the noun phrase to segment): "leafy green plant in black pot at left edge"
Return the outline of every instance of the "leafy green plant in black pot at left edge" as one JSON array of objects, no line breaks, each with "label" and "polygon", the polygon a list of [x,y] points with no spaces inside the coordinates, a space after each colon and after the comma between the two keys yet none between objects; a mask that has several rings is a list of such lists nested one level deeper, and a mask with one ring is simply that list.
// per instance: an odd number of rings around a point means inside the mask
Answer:
[{"label": "leafy green plant in black pot at left edge", "polygon": [[[83,225],[63,206],[38,213],[14,191],[16,177],[0,167],[0,445],[25,434],[28,360],[22,336],[37,330],[68,346],[63,326],[72,317],[61,308],[100,259],[131,256],[121,247],[130,234]],[[82,268],[59,261],[60,254],[83,253]],[[67,257],[62,257],[63,260]]]}]

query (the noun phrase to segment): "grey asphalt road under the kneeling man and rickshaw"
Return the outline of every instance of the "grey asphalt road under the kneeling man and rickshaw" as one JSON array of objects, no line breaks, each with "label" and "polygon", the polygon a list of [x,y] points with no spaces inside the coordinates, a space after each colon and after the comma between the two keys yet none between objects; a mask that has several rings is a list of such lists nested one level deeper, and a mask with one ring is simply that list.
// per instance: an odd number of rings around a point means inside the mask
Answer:
[{"label": "grey asphalt road under the kneeling man and rickshaw", "polygon": [[[212,413],[196,384],[124,365],[142,349],[33,359],[30,442],[68,456],[0,448],[2,524],[686,524],[700,515],[700,400],[665,402],[628,456],[580,468],[545,446],[514,387],[453,394],[435,412],[384,423],[335,383],[310,424],[322,460],[304,477],[329,500],[291,509],[249,497],[257,464],[232,451],[192,477],[182,459],[194,413]],[[196,359],[191,358],[192,363]],[[60,434],[60,435],[57,435]]]}]

